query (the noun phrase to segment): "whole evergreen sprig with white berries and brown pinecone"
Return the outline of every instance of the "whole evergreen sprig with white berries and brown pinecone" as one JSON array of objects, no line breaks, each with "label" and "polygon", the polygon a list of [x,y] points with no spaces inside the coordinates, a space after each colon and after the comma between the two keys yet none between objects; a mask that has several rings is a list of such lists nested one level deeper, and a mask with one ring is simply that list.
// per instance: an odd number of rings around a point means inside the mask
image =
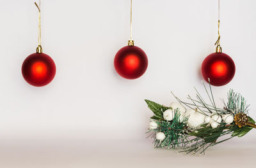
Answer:
[{"label": "whole evergreen sprig with white berries and brown pinecone", "polygon": [[216,107],[211,85],[205,87],[209,103],[196,90],[196,97],[188,95],[190,102],[181,101],[163,106],[147,102],[154,113],[150,118],[148,137],[152,137],[155,148],[179,149],[185,153],[205,153],[205,150],[233,137],[243,137],[253,128],[255,121],[248,115],[248,105],[241,94],[228,92],[224,108]]}]

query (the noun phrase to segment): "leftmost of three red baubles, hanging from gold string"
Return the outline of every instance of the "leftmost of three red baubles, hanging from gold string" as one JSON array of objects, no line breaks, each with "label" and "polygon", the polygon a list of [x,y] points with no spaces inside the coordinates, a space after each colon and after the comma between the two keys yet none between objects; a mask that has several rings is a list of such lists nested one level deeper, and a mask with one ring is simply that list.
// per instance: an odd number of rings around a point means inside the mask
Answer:
[{"label": "leftmost of three red baubles, hanging from gold string", "polygon": [[49,84],[56,74],[54,61],[45,53],[33,53],[22,64],[24,79],[35,87]]}]

